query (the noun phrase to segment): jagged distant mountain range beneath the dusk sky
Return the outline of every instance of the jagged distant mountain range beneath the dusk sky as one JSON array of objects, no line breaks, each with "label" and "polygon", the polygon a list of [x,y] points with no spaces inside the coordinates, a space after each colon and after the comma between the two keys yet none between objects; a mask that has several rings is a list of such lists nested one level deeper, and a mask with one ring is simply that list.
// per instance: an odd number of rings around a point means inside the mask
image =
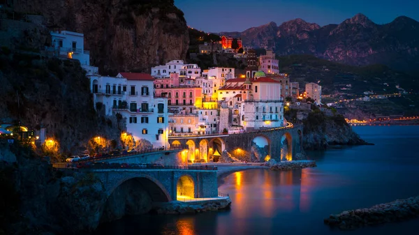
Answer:
[{"label": "jagged distant mountain range beneath the dusk sky", "polygon": [[313,54],[355,66],[382,63],[398,70],[419,66],[419,22],[404,16],[375,24],[357,14],[341,24],[322,27],[296,19],[219,34],[240,37],[244,45],[272,49],[278,55]]}]

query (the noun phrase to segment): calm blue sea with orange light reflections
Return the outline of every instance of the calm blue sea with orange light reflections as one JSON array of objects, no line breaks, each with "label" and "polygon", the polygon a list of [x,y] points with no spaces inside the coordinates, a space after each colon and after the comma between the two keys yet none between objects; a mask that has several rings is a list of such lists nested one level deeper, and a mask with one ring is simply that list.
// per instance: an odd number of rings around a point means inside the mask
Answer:
[{"label": "calm blue sea with orange light reflections", "polygon": [[309,152],[316,168],[230,174],[219,186],[230,211],[135,216],[96,234],[419,234],[419,219],[351,232],[323,224],[330,213],[419,195],[419,126],[354,129],[376,145]]}]

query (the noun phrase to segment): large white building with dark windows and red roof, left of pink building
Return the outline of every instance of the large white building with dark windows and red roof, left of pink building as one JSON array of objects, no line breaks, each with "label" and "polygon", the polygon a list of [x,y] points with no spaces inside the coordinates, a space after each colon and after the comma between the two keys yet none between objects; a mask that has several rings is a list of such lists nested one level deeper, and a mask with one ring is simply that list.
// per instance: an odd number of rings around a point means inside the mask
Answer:
[{"label": "large white building with dark windows and red roof, left of pink building", "polygon": [[105,114],[122,114],[135,140],[147,139],[154,147],[168,144],[168,100],[154,98],[154,78],[145,73],[119,73],[117,77],[90,76],[94,104]]}]

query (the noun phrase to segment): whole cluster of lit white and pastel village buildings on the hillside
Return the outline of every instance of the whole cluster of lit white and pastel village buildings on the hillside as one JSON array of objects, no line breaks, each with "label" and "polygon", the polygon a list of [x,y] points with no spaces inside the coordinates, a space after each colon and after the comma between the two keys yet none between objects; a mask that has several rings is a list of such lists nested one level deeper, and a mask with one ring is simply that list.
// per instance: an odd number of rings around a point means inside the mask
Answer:
[{"label": "whole cluster of lit white and pastel village buildings on the hillside", "polygon": [[[99,75],[98,69],[90,66],[81,33],[61,31],[51,35],[57,53],[79,59],[87,70],[95,108],[100,107],[105,115],[120,114],[135,140],[147,139],[154,147],[167,146],[172,135],[286,126],[284,98],[298,96],[298,83],[279,74],[278,60],[269,51],[258,58],[254,50],[249,50],[245,74],[239,76],[234,68],[201,70],[197,64],[172,60],[151,68],[151,74],[119,73],[110,77]],[[223,39],[223,47],[230,46],[230,38]],[[308,94],[314,91],[315,86]]]}]

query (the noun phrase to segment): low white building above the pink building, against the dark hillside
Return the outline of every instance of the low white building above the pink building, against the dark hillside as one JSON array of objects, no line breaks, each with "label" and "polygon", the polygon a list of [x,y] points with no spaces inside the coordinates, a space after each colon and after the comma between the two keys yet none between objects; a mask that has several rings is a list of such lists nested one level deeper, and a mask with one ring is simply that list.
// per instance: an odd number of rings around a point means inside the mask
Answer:
[{"label": "low white building above the pink building, against the dark hillside", "polygon": [[185,64],[180,59],[172,60],[165,65],[152,67],[153,77],[169,77],[170,73],[178,73],[180,76],[195,79],[200,77],[201,69],[196,63]]}]

